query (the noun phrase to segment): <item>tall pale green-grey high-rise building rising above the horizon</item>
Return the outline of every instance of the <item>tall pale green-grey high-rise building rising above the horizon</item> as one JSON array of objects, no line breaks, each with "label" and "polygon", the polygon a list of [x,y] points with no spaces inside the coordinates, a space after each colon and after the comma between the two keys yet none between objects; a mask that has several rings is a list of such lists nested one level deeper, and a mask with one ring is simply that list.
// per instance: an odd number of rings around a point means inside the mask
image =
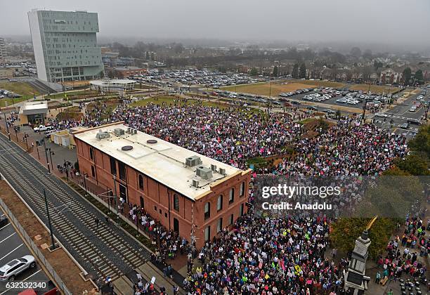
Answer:
[{"label": "tall pale green-grey high-rise building rising above the horizon", "polygon": [[32,10],[28,20],[39,79],[60,83],[103,77],[97,13]]}]

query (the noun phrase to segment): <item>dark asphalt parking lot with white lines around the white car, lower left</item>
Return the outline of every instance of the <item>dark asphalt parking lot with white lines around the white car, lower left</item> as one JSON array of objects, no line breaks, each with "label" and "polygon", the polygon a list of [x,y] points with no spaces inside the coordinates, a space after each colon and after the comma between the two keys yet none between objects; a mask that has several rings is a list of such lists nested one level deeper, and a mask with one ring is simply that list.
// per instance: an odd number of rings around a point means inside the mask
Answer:
[{"label": "dark asphalt parking lot with white lines around the white car, lower left", "polygon": [[[0,210],[0,216],[4,217],[4,212]],[[30,249],[27,248],[26,244],[22,241],[18,232],[15,231],[13,225],[9,222],[7,225],[3,225],[0,228],[0,267],[6,263],[13,261],[13,259],[21,258],[25,255],[32,255]],[[39,263],[36,263],[34,268],[24,270],[19,275],[16,275],[15,282],[48,282],[49,279],[41,269]],[[8,289],[6,283],[8,281],[0,281],[0,295],[3,294],[18,294],[17,289]],[[49,284],[46,289],[41,290],[39,293],[42,294],[48,289],[52,289],[53,284]],[[38,294],[39,294],[38,293]]]}]

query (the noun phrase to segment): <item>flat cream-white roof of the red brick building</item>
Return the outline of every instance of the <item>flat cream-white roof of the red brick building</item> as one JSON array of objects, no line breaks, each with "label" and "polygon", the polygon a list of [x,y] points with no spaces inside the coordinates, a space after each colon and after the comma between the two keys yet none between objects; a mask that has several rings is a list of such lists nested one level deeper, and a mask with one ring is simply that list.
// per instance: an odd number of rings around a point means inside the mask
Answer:
[{"label": "flat cream-white roof of the red brick building", "polygon": [[[124,134],[115,135],[115,129],[124,130]],[[73,134],[75,138],[84,143],[105,152],[127,166],[140,171],[145,176],[149,176],[193,200],[210,192],[211,185],[214,183],[244,172],[147,133],[141,131],[127,133],[127,130],[128,126],[124,125],[123,122],[118,122]],[[100,131],[109,133],[110,137],[99,140],[96,135]],[[148,140],[156,140],[156,143],[148,143]],[[125,146],[130,146],[132,149],[122,150],[122,147]],[[186,166],[185,159],[193,156],[200,157],[202,164],[193,167]],[[211,171],[211,178],[203,179],[196,175],[197,167],[204,166],[211,169],[211,165],[216,166],[216,171]],[[225,169],[225,173],[220,173],[220,168]],[[199,182],[197,188],[192,185],[193,180]]]}]

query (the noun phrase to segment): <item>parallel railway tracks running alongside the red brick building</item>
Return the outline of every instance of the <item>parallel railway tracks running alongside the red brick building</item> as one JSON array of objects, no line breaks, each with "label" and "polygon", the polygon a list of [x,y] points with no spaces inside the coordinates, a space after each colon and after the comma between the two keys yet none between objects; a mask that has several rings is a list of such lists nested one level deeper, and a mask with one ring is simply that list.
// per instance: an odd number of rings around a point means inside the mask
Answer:
[{"label": "parallel railway tracks running alongside the red brick building", "polygon": [[[48,224],[43,195],[46,190],[54,234],[93,278],[110,276],[115,280],[148,261],[148,251],[121,230],[104,223],[100,212],[3,135],[0,171]],[[96,218],[100,220],[98,224]]]}]

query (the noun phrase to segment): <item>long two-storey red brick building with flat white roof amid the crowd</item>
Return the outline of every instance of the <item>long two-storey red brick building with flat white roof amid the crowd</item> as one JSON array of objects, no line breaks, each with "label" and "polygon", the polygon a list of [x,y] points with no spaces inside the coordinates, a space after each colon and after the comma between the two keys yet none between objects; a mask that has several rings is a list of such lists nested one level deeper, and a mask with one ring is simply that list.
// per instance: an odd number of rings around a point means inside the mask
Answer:
[{"label": "long two-storey red brick building with flat white roof amid the crowd", "polygon": [[129,130],[123,122],[75,132],[74,140],[81,173],[189,242],[194,225],[197,248],[247,211],[250,169]]}]

